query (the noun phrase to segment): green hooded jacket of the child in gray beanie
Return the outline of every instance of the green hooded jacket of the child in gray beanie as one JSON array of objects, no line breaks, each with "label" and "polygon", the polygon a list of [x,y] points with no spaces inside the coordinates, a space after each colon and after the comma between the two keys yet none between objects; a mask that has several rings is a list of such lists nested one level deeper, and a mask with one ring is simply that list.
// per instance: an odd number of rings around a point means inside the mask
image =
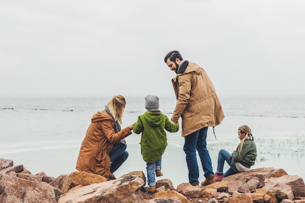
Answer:
[{"label": "green hooded jacket of the child in gray beanie", "polygon": [[142,133],[140,144],[145,162],[156,162],[164,153],[167,146],[165,130],[171,133],[177,132],[179,125],[172,123],[161,111],[146,111],[133,124],[133,133]]}]

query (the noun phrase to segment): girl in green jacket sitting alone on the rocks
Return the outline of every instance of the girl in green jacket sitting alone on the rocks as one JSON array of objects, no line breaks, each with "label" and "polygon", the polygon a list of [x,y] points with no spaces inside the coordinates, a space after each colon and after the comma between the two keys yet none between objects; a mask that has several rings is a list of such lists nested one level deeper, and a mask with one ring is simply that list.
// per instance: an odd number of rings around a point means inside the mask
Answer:
[{"label": "girl in green jacket sitting alone on the rocks", "polygon": [[[226,150],[218,152],[217,172],[215,173],[215,181],[221,181],[224,177],[233,175],[238,172],[248,171],[254,165],[256,160],[256,145],[251,133],[251,129],[247,125],[243,125],[237,130],[240,143],[237,149],[232,153]],[[230,168],[223,173],[225,160]]]}]

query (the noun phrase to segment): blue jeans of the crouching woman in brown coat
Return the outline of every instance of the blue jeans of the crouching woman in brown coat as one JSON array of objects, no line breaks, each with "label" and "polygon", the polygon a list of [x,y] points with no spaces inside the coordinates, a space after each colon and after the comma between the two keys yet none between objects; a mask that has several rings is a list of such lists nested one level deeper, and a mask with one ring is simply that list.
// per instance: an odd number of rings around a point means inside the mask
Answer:
[{"label": "blue jeans of the crouching woman in brown coat", "polygon": [[118,144],[114,145],[112,150],[109,153],[110,157],[110,172],[114,173],[123,163],[126,161],[128,157],[128,152],[126,151],[127,145],[125,144]]}]

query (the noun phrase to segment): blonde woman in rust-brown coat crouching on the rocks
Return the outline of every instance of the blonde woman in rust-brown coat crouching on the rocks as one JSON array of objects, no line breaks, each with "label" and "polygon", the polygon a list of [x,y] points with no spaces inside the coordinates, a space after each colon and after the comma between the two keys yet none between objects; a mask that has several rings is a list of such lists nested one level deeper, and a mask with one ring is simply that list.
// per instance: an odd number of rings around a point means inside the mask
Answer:
[{"label": "blonde woman in rust-brown coat crouching on the rocks", "polygon": [[122,117],[126,105],[122,95],[115,95],[105,110],[91,118],[86,136],[78,154],[76,169],[95,173],[109,179],[128,157],[125,137],[131,135],[133,124],[121,130]]}]

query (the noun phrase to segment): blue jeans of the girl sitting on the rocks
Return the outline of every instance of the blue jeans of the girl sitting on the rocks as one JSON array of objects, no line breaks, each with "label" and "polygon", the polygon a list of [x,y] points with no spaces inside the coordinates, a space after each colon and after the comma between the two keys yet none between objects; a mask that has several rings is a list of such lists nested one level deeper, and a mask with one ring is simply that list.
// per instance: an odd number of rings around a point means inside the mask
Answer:
[{"label": "blue jeans of the girl sitting on the rocks", "polygon": [[229,164],[230,168],[224,173],[224,177],[238,173],[235,164],[230,164],[231,153],[227,150],[220,150],[218,152],[218,161],[217,161],[217,172],[222,173],[224,169],[225,160]]}]

